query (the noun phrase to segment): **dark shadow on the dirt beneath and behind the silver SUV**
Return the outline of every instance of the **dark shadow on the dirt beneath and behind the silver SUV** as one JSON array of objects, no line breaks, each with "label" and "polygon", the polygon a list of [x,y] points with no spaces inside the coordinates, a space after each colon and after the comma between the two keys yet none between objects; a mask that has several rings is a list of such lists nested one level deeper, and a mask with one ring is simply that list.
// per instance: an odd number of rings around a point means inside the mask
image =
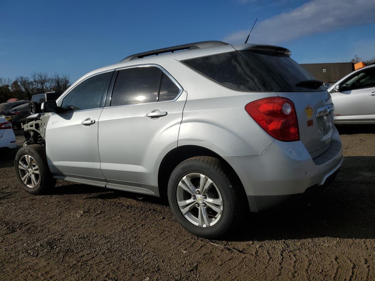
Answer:
[{"label": "dark shadow on the dirt beneath and behind the silver SUV", "polygon": [[[375,157],[344,157],[335,181],[308,205],[284,206],[267,212],[244,214],[238,230],[225,241],[265,241],[318,237],[375,238]],[[92,194],[97,199],[134,199],[168,206],[158,197],[110,190],[84,184],[54,188],[52,194]],[[99,193],[99,194],[98,194]],[[287,208],[285,208],[287,207]],[[151,212],[151,209],[150,209]]]}]

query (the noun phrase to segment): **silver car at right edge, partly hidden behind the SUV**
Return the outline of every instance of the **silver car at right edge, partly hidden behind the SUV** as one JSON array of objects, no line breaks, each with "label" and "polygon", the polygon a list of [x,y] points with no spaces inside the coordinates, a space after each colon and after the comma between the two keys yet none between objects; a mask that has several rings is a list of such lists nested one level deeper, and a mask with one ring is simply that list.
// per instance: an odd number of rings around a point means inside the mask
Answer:
[{"label": "silver car at right edge, partly hidden behind the SUV", "polygon": [[327,91],[335,124],[375,124],[375,64],[351,72]]}]

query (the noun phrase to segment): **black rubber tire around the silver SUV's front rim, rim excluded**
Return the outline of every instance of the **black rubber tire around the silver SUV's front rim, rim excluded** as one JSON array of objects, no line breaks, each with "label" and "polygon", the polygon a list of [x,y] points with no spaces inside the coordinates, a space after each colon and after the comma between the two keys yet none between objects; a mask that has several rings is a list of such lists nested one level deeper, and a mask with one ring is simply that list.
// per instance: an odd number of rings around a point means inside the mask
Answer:
[{"label": "black rubber tire around the silver SUV's front rim, rim excluded", "polygon": [[[33,157],[34,160],[36,161],[37,166],[39,167],[40,181],[39,181],[38,185],[35,188],[27,187],[23,183],[23,181],[21,180],[21,175],[20,175],[20,172],[18,170],[18,162],[20,161],[20,159],[21,159],[21,157],[23,155],[30,155],[31,157]],[[39,154],[35,153],[34,151],[28,149],[27,146],[24,146],[23,148],[21,148],[17,152],[17,155],[15,157],[15,172],[16,172],[17,179],[20,182],[22,188],[24,190],[26,190],[28,193],[30,193],[30,194],[38,194],[38,193],[42,192],[43,187],[45,185],[46,178],[48,176],[47,175],[47,171],[46,171],[46,166],[45,166],[45,163],[43,161],[43,155],[39,155]]]}]

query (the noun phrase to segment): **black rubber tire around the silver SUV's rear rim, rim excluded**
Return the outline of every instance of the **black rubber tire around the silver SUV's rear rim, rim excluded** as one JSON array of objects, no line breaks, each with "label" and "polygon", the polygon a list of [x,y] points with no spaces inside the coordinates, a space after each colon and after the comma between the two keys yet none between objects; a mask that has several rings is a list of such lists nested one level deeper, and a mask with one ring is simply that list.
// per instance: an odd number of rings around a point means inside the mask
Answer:
[{"label": "black rubber tire around the silver SUV's rear rim, rim excluded", "polygon": [[[177,185],[180,180],[189,173],[201,173],[217,186],[221,193],[223,200],[223,212],[217,223],[210,227],[198,227],[190,223],[184,215],[181,213],[180,208],[177,204]],[[233,221],[234,216],[234,202],[231,192],[220,176],[215,170],[211,169],[207,164],[201,163],[199,160],[194,161],[194,163],[186,163],[178,166],[175,169],[168,183],[168,200],[171,206],[172,212],[174,213],[177,221],[190,233],[204,238],[214,238],[221,236],[226,230],[229,229]]]}]

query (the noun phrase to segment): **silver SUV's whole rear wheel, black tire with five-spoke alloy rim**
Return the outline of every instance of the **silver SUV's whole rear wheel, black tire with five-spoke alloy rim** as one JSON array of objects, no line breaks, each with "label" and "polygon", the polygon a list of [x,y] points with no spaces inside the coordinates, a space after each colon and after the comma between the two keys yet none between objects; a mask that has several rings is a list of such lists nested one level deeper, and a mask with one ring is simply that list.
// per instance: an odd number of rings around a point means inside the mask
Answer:
[{"label": "silver SUV's whole rear wheel, black tire with five-spoke alloy rim", "polygon": [[223,160],[208,156],[184,160],[173,170],[168,200],[177,221],[203,238],[228,234],[242,220],[242,185]]}]

